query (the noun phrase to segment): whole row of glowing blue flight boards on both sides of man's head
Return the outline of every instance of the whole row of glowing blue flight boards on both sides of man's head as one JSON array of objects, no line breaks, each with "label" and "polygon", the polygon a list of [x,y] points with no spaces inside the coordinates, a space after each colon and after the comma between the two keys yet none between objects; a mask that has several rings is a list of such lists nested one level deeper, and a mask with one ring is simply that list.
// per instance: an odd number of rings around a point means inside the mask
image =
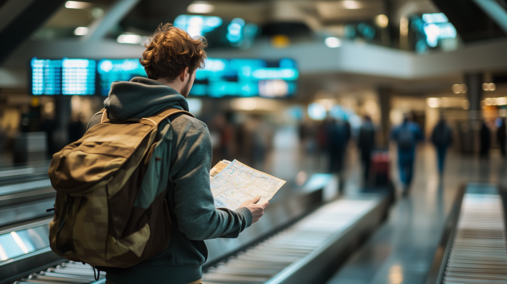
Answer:
[{"label": "whole row of glowing blue flight boards on both sides of man's head", "polygon": [[[33,95],[109,94],[115,81],[146,77],[139,59],[31,60]],[[292,59],[207,58],[197,69],[191,96],[281,98],[297,92],[299,72]]]}]

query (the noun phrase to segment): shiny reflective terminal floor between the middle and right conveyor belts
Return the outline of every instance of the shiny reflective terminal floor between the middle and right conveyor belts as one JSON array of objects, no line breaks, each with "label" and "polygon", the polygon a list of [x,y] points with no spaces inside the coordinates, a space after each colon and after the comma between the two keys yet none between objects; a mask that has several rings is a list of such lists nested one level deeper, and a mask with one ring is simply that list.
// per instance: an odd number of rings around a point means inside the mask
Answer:
[{"label": "shiny reflective terminal floor between the middle and right conveyor belts", "polygon": [[[395,160],[395,154],[392,158]],[[445,175],[439,180],[434,149],[421,145],[410,195],[399,196],[386,223],[327,284],[425,283],[458,186],[465,182],[504,184],[506,166],[498,152],[492,152],[487,160],[450,152]],[[349,192],[357,184],[352,181],[354,173],[348,173]],[[392,176],[399,185],[395,165]]]}]

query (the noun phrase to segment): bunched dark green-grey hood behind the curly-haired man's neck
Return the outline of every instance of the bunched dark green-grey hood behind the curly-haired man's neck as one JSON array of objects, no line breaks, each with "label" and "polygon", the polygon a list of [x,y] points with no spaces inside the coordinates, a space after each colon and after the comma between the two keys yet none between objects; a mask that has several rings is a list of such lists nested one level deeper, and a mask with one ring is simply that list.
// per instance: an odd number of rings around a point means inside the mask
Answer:
[{"label": "bunched dark green-grey hood behind the curly-haired man's neck", "polygon": [[119,120],[149,117],[166,107],[189,111],[184,96],[157,80],[143,77],[113,82],[104,106]]}]

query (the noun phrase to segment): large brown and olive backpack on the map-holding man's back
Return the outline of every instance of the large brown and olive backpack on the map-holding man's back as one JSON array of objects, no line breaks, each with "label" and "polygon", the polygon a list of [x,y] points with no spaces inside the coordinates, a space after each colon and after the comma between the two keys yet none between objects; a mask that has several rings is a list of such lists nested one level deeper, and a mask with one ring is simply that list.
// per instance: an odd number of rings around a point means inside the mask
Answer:
[{"label": "large brown and olive backpack on the map-holding man's back", "polygon": [[48,175],[57,191],[49,224],[54,253],[92,266],[126,268],[169,246],[168,117],[176,113],[194,117],[166,108],[120,121],[104,109],[99,124],[53,155]]}]

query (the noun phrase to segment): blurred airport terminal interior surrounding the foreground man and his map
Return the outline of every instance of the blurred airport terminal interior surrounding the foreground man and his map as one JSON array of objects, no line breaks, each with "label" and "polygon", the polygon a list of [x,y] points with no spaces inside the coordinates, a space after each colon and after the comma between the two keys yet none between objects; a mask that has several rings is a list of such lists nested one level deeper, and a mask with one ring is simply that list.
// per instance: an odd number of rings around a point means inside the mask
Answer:
[{"label": "blurred airport terminal interior surrounding the foreground man and his map", "polygon": [[207,40],[210,169],[286,181],[203,283],[507,283],[505,0],[0,0],[0,284],[106,282],[51,250],[48,169],[165,23]]}]

